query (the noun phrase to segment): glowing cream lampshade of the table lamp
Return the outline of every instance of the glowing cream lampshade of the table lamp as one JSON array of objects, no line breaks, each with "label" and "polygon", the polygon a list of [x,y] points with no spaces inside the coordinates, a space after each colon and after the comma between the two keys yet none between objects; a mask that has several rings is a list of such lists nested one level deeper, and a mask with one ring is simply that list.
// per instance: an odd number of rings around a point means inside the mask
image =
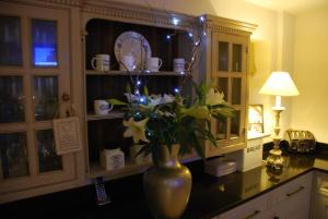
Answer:
[{"label": "glowing cream lampshade of the table lamp", "polygon": [[274,96],[300,95],[298,89],[288,72],[272,72],[259,93]]}]

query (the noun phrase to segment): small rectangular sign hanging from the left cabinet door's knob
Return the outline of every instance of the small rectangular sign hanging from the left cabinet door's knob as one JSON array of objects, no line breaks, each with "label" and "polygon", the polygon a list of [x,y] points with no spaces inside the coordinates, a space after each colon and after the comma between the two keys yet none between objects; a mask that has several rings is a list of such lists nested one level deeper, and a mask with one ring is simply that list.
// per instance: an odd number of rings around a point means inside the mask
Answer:
[{"label": "small rectangular sign hanging from the left cabinet door's knob", "polygon": [[54,136],[57,155],[81,150],[80,122],[77,117],[54,120]]}]

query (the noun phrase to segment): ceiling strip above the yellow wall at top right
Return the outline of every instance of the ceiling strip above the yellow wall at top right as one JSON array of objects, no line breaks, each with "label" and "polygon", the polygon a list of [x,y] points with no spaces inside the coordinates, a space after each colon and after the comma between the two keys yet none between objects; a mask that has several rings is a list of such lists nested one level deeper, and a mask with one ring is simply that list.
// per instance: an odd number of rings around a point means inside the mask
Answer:
[{"label": "ceiling strip above the yellow wall at top right", "polygon": [[328,7],[328,0],[245,0],[246,2],[271,9],[300,14],[321,7]]}]

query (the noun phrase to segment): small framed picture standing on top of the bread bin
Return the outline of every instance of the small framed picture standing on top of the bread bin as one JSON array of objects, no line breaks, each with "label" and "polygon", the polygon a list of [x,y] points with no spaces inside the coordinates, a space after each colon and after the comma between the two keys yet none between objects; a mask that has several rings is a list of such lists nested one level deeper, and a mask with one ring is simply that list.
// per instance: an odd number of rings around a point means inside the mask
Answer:
[{"label": "small framed picture standing on top of the bread bin", "polygon": [[263,133],[263,106],[249,105],[248,106],[248,131]]}]

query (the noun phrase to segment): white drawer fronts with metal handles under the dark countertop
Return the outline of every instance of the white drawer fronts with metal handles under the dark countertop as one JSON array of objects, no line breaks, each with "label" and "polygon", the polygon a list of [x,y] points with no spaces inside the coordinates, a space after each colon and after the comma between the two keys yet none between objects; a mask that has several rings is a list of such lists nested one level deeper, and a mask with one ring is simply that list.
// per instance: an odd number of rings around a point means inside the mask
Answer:
[{"label": "white drawer fronts with metal handles under the dark countertop", "polygon": [[308,219],[312,175],[302,175],[215,219]]}]

